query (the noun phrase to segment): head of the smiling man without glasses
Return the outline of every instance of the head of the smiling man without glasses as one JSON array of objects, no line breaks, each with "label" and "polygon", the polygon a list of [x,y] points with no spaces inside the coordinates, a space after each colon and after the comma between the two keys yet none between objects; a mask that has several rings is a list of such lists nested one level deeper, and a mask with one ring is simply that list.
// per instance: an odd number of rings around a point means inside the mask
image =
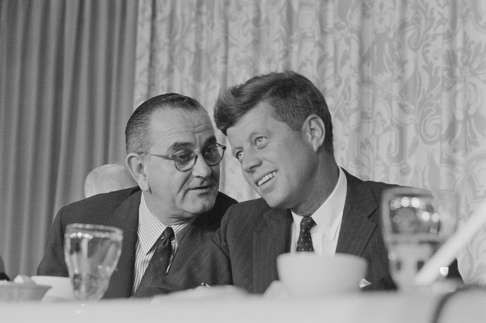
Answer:
[{"label": "head of the smiling man without glasses", "polygon": [[331,116],[304,76],[270,73],[231,87],[214,118],[247,182],[271,207],[313,209],[334,185]]}]

